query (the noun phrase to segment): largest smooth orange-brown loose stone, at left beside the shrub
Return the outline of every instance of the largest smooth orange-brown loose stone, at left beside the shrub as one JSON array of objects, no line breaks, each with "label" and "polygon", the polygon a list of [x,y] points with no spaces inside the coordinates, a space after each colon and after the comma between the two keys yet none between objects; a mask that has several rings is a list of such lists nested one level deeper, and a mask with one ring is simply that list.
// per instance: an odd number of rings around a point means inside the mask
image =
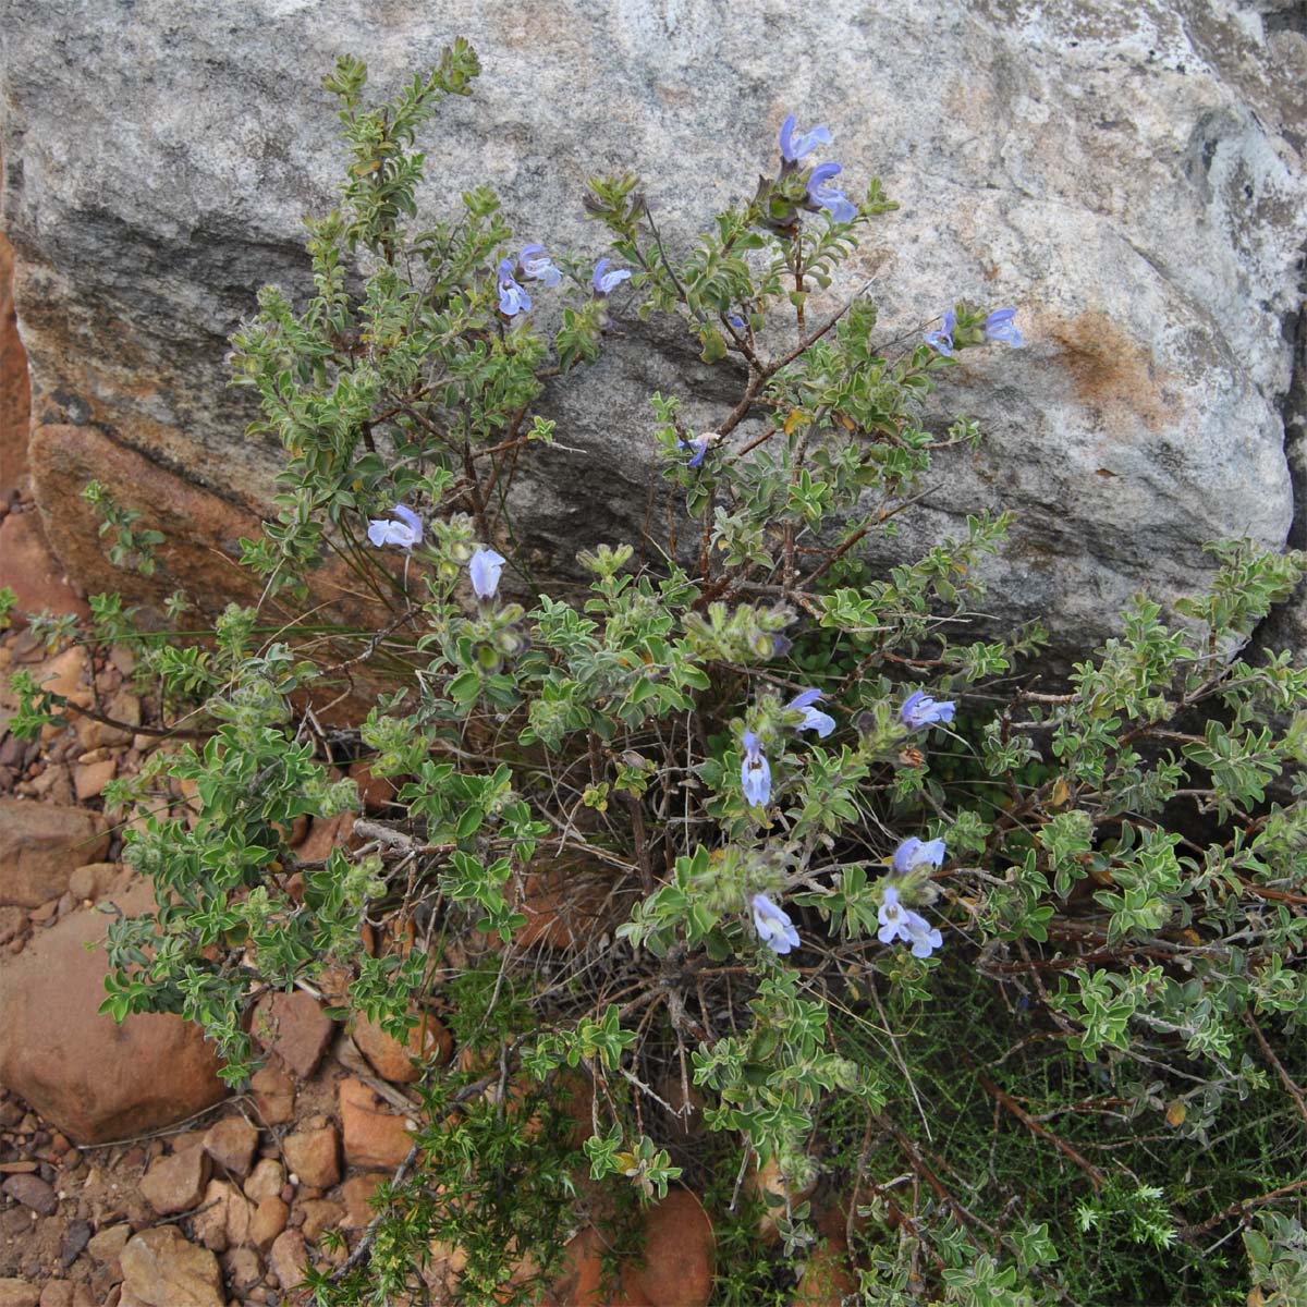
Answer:
[{"label": "largest smooth orange-brown loose stone, at left beside the shrub", "polygon": [[[144,884],[118,899],[128,916],[153,902]],[[71,912],[5,963],[0,987],[0,1082],[77,1144],[158,1129],[226,1094],[197,1026],[162,1013],[119,1026],[99,1013],[110,920]]]}]

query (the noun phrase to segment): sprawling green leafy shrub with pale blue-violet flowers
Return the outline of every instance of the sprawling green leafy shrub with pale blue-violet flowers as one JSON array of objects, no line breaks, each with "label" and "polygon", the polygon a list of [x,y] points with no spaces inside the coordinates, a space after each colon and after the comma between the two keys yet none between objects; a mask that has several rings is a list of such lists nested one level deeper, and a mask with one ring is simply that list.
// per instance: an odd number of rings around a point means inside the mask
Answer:
[{"label": "sprawling green leafy shrub with pale blue-violet flowers", "polygon": [[[792,120],[687,247],[630,174],[589,184],[597,261],[519,247],[486,187],[422,225],[420,132],[477,71],[455,42],[375,107],[357,60],[328,78],[349,165],[308,223],[315,294],[264,288],[233,337],[286,451],[244,542],[265,603],[188,647],[140,637],[207,738],[108,796],[171,776],[199,813],[128,833],[159,906],[112,927],[106,1009],[184,1013],[233,1082],[269,989],[452,1023],[459,1069],[418,1086],[430,1124],[311,1276],[323,1303],[417,1291],[433,1238],[465,1300],[528,1300],[582,1197],[622,1240],[678,1180],[716,1214],[721,1302],[787,1302],[822,1210],[865,1302],[1287,1302],[1307,670],[1247,648],[1304,557],[1216,545],[1206,593],[1138,597],[1033,689],[1043,633],[968,631],[1008,515],[887,570],[867,548],[982,439],[924,401],[963,350],[1019,344],[1012,311],[959,302],[887,341],[865,290],[814,311],[893,204],[836,191],[829,135]],[[566,439],[550,387],[633,318],[687,332],[738,400],[697,430],[652,395],[665,538],[600,545],[545,593],[508,491]],[[135,521],[106,529],[149,559]],[[328,559],[371,626],[269,625]],[[123,638],[97,605],[88,638]],[[366,718],[324,729],[363,677]],[[20,689],[24,729],[68,707]],[[353,758],[395,801],[303,863],[293,823],[357,810],[328,770]]]}]

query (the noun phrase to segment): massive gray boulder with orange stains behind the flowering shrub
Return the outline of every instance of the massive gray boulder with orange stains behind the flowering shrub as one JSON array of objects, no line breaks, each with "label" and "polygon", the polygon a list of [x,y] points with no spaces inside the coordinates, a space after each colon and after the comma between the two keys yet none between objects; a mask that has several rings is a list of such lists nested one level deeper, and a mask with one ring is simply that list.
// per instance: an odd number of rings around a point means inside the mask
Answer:
[{"label": "massive gray boulder with orange stains behind the flowering shrub", "polygon": [[[906,535],[1017,510],[992,613],[1084,650],[1136,589],[1201,586],[1202,541],[1291,532],[1293,4],[3,0],[0,16],[34,421],[95,425],[243,507],[267,503],[278,451],[240,434],[225,339],[260,282],[306,285],[299,220],[331,205],[342,158],[320,78],[352,51],[388,93],[463,34],[484,76],[427,139],[433,205],[486,182],[521,239],[597,254],[584,180],[634,167],[689,240],[752,192],[795,111],[829,123],[855,187],[878,174],[902,204],[831,303],[873,277],[887,337],[958,297],[1019,306],[1026,348],[968,353],[937,403],[988,443],[938,463]],[[710,426],[727,382],[630,324],[559,386],[559,439],[588,452],[541,454],[520,503],[533,550],[561,567],[634,536],[648,392],[689,392]]]}]

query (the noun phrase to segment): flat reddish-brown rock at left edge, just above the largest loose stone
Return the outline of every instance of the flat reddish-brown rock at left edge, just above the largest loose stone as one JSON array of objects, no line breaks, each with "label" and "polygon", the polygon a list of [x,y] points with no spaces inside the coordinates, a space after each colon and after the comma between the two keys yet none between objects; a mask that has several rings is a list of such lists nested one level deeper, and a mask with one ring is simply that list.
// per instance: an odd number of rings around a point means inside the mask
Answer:
[{"label": "flat reddish-brown rock at left edge, just above the largest loose stone", "polygon": [[108,843],[99,813],[0,799],[0,903],[39,907],[59,898],[73,872],[102,859]]}]

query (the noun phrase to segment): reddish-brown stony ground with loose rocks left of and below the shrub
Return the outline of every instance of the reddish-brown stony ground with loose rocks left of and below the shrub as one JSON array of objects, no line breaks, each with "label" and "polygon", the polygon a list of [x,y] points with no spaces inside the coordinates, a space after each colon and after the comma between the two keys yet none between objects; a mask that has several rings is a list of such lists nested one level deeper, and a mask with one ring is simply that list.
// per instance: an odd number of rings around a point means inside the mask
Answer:
[{"label": "reddish-brown stony ground with loose rocks left of and below the shrub", "polygon": [[[85,610],[27,503],[0,505],[0,584],[20,591],[20,608]],[[22,627],[0,635],[0,1307],[299,1302],[306,1264],[344,1260],[378,1183],[409,1151],[410,1053],[444,1064],[457,1050],[434,1017],[405,1048],[367,1022],[346,1031],[314,993],[273,995],[255,1014],[267,1061],[231,1094],[180,1018],[119,1027],[97,1013],[105,955],[94,945],[114,908],[152,902],[120,860],[124,823],[137,818],[102,799],[110,779],[167,746],[148,733],[153,704],[132,667],[125,647],[93,661]],[[8,680],[20,668],[122,725],[84,716],[18,740]],[[378,783],[358,779],[365,800],[384,802]],[[186,812],[192,799],[178,784],[173,801]],[[352,826],[306,823],[301,856],[324,856]],[[345,1247],[325,1247],[337,1229]],[[714,1235],[697,1197],[674,1192],[655,1208],[646,1247],[618,1300],[708,1300]],[[608,1300],[601,1252],[595,1231],[575,1236],[559,1307]],[[434,1302],[450,1300],[456,1274],[457,1249],[443,1249]]]}]

